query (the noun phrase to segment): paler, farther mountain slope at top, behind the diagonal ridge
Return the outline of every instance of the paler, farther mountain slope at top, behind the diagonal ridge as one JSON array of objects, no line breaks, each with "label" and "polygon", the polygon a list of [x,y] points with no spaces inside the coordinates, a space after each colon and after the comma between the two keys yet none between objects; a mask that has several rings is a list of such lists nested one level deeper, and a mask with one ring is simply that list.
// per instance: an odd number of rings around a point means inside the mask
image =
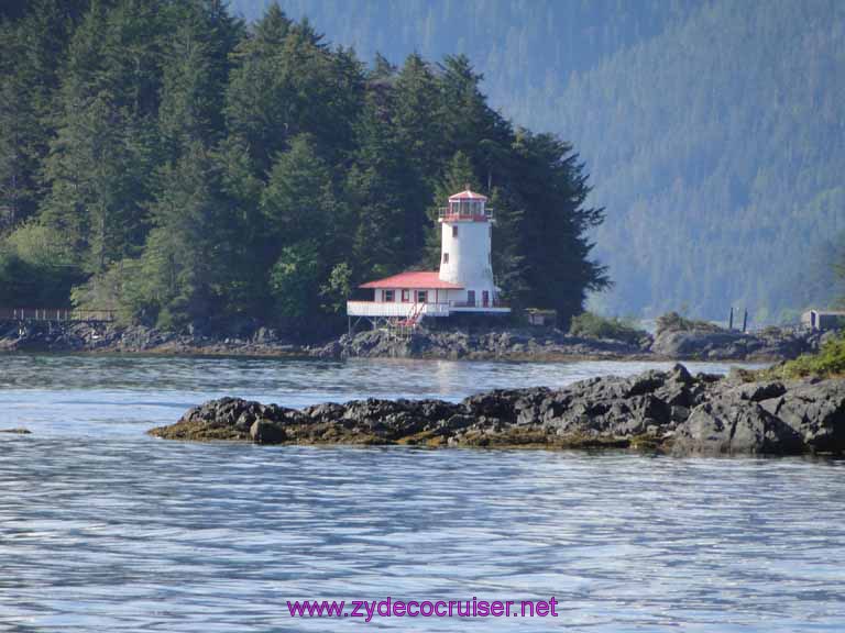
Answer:
[{"label": "paler, farther mountain slope at top, behind the diagonal ridge", "polygon": [[[233,0],[232,12],[260,18],[273,0]],[[572,71],[660,33],[701,0],[278,0],[294,19],[307,16],[332,43],[400,64],[463,53],[484,74],[491,103],[527,126],[542,116]],[[527,96],[531,93],[530,98]],[[540,101],[535,93],[538,93]]]}]

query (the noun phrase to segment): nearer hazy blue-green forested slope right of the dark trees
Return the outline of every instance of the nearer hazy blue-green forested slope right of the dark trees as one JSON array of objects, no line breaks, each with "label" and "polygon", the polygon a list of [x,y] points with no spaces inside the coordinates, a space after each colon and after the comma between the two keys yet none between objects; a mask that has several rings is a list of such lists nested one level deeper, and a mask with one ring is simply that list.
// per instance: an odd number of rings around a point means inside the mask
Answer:
[{"label": "nearer hazy blue-green forested slope right of the dark trees", "polygon": [[555,112],[607,208],[606,310],[765,320],[831,298],[845,3],[713,2],[575,78]]}]

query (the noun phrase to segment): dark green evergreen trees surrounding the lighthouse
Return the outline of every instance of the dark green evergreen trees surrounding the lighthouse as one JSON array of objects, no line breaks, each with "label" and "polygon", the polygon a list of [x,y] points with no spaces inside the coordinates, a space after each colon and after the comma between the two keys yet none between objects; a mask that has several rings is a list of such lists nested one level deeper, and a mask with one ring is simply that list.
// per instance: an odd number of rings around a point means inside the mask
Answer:
[{"label": "dark green evergreen trees surrounding the lighthouse", "polygon": [[0,11],[0,304],[317,329],[355,285],[431,265],[465,184],[515,304],[607,285],[573,147],[516,127],[463,55],[367,66],[271,4],[32,0]]}]

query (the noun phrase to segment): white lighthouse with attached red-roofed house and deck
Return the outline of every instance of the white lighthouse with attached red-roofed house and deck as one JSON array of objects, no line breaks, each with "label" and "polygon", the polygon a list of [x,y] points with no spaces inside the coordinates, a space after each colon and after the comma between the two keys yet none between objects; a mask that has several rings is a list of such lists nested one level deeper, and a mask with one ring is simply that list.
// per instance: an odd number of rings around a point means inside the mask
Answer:
[{"label": "white lighthouse with attached red-roofed house and deck", "polygon": [[415,325],[422,316],[458,313],[506,314],[493,280],[487,199],[467,189],[440,209],[440,270],[402,273],[361,286],[372,301],[348,301],[347,314],[373,320],[396,319]]}]

